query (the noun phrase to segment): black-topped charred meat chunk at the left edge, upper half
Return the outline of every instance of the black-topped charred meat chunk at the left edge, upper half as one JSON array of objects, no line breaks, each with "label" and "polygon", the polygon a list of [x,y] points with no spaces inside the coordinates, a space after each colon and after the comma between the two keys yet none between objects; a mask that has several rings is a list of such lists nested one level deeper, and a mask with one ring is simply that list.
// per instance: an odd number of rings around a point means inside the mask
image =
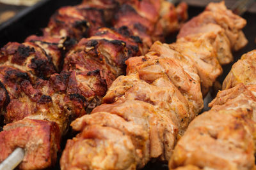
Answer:
[{"label": "black-topped charred meat chunk at the left edge, upper half", "polygon": [[24,71],[35,80],[47,79],[56,72],[51,58],[34,43],[8,43],[1,48],[1,66],[11,66]]}]

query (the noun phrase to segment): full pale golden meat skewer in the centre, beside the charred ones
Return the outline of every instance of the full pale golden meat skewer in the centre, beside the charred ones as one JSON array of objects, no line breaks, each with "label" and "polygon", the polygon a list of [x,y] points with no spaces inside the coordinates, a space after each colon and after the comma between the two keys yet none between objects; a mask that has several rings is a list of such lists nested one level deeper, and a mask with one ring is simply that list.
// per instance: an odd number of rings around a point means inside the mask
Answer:
[{"label": "full pale golden meat skewer in the centre, beside the charred ones", "polygon": [[[113,81],[104,104],[72,122],[79,134],[68,139],[61,169],[140,169],[152,159],[171,159],[177,139],[203,107],[202,92],[221,74],[221,60],[237,50],[230,45],[230,30],[218,21],[226,18],[233,34],[241,31],[235,24],[246,24],[224,3],[211,3],[204,13],[212,20],[201,18],[197,32],[188,32],[185,24],[180,34],[186,29],[186,36],[176,43],[156,41],[146,55],[125,62],[127,76]],[[219,49],[221,39],[228,49]]]}]

